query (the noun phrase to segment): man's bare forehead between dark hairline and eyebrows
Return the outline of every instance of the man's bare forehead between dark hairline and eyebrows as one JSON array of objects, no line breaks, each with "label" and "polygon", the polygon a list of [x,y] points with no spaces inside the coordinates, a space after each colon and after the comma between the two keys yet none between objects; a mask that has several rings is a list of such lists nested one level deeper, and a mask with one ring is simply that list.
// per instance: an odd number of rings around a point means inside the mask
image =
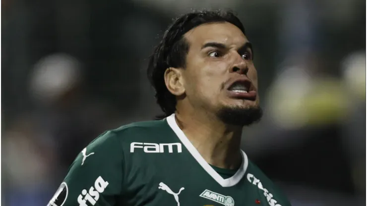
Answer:
[{"label": "man's bare forehead between dark hairline and eyebrows", "polygon": [[244,33],[229,22],[202,24],[188,31],[184,37],[190,47],[201,47],[208,42],[218,42],[228,46],[242,46],[248,42]]}]

